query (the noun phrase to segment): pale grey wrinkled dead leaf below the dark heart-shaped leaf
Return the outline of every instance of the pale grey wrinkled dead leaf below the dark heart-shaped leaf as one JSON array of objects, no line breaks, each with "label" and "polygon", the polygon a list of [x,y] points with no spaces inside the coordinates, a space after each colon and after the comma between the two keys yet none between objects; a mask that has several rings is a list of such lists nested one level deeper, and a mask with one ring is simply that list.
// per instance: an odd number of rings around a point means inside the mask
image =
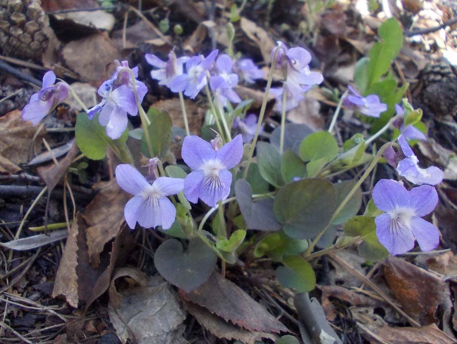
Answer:
[{"label": "pale grey wrinkled dead leaf below the dark heart-shaped leaf", "polygon": [[[141,274],[141,273],[140,273]],[[160,277],[149,277],[145,286],[120,292],[119,308],[108,304],[108,313],[122,343],[186,344],[183,311],[179,299]]]}]

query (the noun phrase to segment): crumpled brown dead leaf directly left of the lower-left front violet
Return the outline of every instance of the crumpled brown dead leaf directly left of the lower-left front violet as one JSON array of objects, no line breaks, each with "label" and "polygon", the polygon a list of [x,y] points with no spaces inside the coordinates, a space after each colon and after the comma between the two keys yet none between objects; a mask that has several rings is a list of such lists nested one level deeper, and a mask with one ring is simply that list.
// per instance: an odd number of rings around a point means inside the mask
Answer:
[{"label": "crumpled brown dead leaf directly left of the lower-left front violet", "polygon": [[124,222],[124,206],[130,196],[113,180],[103,183],[103,188],[86,207],[84,218],[87,229],[89,260],[96,268],[105,244],[116,237]]}]

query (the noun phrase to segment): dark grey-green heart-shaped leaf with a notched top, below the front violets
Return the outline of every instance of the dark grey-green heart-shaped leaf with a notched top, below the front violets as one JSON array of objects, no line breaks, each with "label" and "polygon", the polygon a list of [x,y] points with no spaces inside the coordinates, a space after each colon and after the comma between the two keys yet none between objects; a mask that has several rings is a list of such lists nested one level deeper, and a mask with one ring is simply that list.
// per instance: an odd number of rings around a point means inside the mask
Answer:
[{"label": "dark grey-green heart-shaped leaf with a notched top, below the front violets", "polygon": [[154,255],[154,264],[160,275],[185,292],[208,280],[216,260],[214,251],[198,238],[191,239],[185,251],[180,241],[167,240]]}]

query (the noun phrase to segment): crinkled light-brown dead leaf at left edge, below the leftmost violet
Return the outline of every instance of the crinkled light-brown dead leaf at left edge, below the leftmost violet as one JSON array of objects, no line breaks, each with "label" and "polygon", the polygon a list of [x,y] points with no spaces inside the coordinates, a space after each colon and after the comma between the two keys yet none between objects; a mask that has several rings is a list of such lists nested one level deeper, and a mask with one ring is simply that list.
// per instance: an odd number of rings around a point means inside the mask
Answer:
[{"label": "crinkled light-brown dead leaf at left edge, below the leftmost violet", "polygon": [[30,122],[22,120],[19,110],[0,117],[0,171],[14,173],[21,170],[18,165],[27,163],[30,148],[41,145],[44,131],[33,142],[36,130]]}]

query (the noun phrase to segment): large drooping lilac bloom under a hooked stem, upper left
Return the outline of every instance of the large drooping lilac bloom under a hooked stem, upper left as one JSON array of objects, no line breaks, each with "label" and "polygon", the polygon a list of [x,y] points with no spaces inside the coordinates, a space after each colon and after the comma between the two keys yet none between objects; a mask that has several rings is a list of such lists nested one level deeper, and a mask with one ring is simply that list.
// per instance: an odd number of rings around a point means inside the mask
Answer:
[{"label": "large drooping lilac bloom under a hooked stem, upper left", "polygon": [[[119,63],[119,61],[116,62]],[[111,79],[98,87],[98,94],[103,99],[87,112],[89,119],[100,112],[98,121],[101,125],[106,126],[106,134],[113,140],[119,139],[127,128],[127,113],[132,116],[138,114],[130,73],[122,71],[121,75],[119,74],[123,68],[128,68],[127,61],[122,61]],[[132,72],[135,78],[138,78],[138,67],[132,68]],[[135,80],[135,82],[141,103],[148,93],[148,87],[141,81]]]}]

